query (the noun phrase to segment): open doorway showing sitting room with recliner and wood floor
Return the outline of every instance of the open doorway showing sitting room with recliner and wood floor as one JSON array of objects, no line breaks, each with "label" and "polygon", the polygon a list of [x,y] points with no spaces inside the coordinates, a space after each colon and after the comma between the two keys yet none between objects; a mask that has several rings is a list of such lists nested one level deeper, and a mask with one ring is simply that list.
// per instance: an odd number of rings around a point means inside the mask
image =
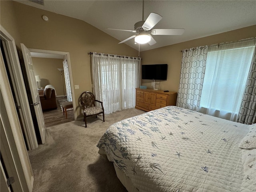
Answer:
[{"label": "open doorway showing sitting room with recliner and wood floor", "polygon": [[[76,114],[72,108],[67,110],[67,118],[62,110],[63,102],[74,101],[69,53],[38,49],[30,49],[30,52],[34,67],[36,68],[35,74],[39,76],[37,78],[40,80],[37,82],[38,90],[43,91],[45,87],[50,87],[54,88],[56,92],[57,108],[43,110],[46,127],[75,120]],[[37,64],[39,65],[38,67]],[[68,70],[68,74],[64,70]]]}]

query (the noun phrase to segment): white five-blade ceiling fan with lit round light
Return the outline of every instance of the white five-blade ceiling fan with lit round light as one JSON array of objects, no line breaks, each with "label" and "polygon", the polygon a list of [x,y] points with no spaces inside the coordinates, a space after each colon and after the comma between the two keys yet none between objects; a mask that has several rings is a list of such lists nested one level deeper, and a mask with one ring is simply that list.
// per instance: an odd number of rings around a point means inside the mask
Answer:
[{"label": "white five-blade ceiling fan with lit round light", "polygon": [[144,0],[142,4],[142,21],[136,22],[134,24],[134,30],[125,29],[110,29],[108,30],[119,30],[128,31],[136,33],[136,35],[130,36],[129,38],[119,42],[124,43],[132,38],[134,38],[136,43],[149,45],[154,45],[156,41],[151,35],[182,35],[185,29],[153,29],[153,27],[162,19],[163,17],[156,13],[150,13],[148,18],[144,21]]}]

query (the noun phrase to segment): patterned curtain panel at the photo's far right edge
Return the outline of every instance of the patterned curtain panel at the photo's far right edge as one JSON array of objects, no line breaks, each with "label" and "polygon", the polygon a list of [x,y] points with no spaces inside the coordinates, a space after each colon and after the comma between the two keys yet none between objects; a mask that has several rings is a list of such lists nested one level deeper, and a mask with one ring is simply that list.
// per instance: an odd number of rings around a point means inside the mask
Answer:
[{"label": "patterned curtain panel at the photo's far right edge", "polygon": [[242,98],[242,104],[238,114],[238,122],[244,124],[253,124],[256,122],[256,49],[252,58],[252,64],[246,88]]}]

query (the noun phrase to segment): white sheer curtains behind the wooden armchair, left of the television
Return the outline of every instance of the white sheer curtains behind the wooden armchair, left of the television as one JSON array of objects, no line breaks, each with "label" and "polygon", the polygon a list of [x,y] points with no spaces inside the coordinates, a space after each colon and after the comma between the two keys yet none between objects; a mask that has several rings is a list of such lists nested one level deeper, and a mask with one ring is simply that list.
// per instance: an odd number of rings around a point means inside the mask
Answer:
[{"label": "white sheer curtains behind the wooden armchair, left of the television", "polygon": [[105,114],[134,108],[135,88],[140,86],[140,58],[93,52],[94,95],[104,105]]}]

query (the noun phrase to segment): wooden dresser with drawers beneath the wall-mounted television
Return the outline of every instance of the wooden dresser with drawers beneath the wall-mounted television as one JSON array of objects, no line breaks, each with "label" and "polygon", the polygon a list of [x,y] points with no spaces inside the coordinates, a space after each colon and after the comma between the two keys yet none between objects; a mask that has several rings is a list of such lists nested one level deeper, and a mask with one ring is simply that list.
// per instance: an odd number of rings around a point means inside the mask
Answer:
[{"label": "wooden dresser with drawers beneath the wall-mounted television", "polygon": [[136,88],[136,109],[151,111],[176,105],[177,92]]}]

